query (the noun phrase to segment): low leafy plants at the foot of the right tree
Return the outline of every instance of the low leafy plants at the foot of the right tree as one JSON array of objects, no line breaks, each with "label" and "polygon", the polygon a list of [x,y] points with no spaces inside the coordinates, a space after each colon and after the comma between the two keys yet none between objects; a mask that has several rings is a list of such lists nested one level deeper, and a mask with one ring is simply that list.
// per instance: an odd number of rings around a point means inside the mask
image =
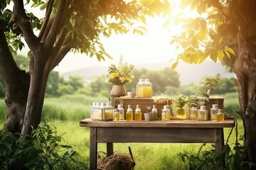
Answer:
[{"label": "low leafy plants at the foot of the right tree", "polygon": [[[233,128],[230,131],[230,135],[233,132]],[[256,164],[253,162],[245,162],[246,154],[245,147],[240,144],[244,143],[244,137],[240,137],[238,140],[238,122],[235,120],[235,144],[233,149],[231,145],[228,145],[228,140],[230,135],[228,135],[227,142],[222,148],[223,154],[215,153],[215,145],[210,151],[203,151],[201,149],[206,144],[203,144],[199,149],[197,154],[192,152],[189,153],[178,153],[178,157],[181,159],[183,164],[186,164],[188,169],[255,169]]]}]

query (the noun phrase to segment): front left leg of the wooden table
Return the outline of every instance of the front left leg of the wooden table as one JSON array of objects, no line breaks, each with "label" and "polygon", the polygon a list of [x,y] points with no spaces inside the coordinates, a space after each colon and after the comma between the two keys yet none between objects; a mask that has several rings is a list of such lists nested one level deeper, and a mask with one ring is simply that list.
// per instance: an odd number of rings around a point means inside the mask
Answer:
[{"label": "front left leg of the wooden table", "polygon": [[96,128],[90,128],[90,169],[97,169]]}]

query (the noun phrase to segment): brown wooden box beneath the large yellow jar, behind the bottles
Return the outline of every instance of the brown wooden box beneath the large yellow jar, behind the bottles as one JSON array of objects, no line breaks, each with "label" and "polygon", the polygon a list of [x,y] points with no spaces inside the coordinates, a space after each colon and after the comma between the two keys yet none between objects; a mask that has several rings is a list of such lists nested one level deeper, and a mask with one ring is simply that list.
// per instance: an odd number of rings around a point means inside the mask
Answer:
[{"label": "brown wooden box beneath the large yellow jar, behind the bottles", "polygon": [[126,113],[128,105],[131,105],[133,112],[136,109],[136,105],[139,105],[139,108],[142,110],[142,120],[144,120],[144,113],[147,113],[146,106],[150,106],[152,109],[153,105],[156,105],[157,118],[161,118],[161,109],[166,105],[164,103],[154,103],[153,98],[114,98],[114,107],[117,108],[117,105],[119,104],[123,105],[124,113]]}]

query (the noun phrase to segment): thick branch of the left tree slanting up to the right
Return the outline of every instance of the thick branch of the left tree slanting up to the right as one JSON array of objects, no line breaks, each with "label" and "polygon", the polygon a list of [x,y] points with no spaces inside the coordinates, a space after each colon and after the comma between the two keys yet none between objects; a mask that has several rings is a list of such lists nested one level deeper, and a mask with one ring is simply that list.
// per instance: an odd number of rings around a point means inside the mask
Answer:
[{"label": "thick branch of the left tree slanting up to the right", "polygon": [[44,44],[45,49],[53,47],[53,44],[60,29],[63,28],[65,24],[67,13],[67,11],[65,10],[68,10],[68,2],[69,0],[62,0],[61,2],[58,3],[58,8],[53,19],[53,24],[50,27],[50,31],[46,37],[46,43]]}]

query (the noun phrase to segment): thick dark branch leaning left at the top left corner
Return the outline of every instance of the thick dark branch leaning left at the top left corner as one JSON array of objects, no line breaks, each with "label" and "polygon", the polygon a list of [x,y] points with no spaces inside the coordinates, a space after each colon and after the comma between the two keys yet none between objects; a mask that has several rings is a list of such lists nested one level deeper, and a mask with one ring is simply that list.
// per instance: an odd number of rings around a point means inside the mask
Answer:
[{"label": "thick dark branch leaning left at the top left corner", "polygon": [[11,16],[11,21],[14,22],[14,29],[21,29],[23,38],[26,40],[28,47],[32,51],[36,51],[39,46],[39,40],[33,33],[33,29],[31,28],[31,23],[25,13],[22,0],[14,0],[14,11]]}]

